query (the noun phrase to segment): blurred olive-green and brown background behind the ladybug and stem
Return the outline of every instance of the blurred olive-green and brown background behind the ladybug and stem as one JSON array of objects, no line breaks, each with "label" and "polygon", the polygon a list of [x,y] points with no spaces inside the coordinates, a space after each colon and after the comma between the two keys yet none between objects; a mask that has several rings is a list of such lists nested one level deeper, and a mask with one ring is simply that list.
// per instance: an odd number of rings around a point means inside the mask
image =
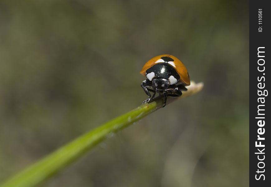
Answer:
[{"label": "blurred olive-green and brown background behind the ladybug and stem", "polygon": [[249,185],[248,2],[0,1],[0,182],[146,99],[172,54],[203,91],[151,114],[41,186]]}]

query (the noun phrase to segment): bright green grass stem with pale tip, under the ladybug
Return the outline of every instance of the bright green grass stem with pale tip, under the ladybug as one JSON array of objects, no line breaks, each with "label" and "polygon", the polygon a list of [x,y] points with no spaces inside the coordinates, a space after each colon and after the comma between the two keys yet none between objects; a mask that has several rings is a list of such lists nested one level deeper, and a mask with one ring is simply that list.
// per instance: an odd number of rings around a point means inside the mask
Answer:
[{"label": "bright green grass stem with pale tip, under the ladybug", "polygon": [[[202,89],[203,84],[191,84],[188,91],[182,97],[197,93]],[[167,103],[176,100],[170,98]],[[65,166],[77,160],[85,152],[109,137],[112,133],[131,125],[141,118],[159,109],[162,99],[152,103],[141,105],[134,110],[123,114],[115,119],[95,128],[94,130],[81,135],[68,144],[60,147],[55,152],[37,161],[25,170],[7,180],[1,187],[31,187],[36,186],[55,174]]]}]

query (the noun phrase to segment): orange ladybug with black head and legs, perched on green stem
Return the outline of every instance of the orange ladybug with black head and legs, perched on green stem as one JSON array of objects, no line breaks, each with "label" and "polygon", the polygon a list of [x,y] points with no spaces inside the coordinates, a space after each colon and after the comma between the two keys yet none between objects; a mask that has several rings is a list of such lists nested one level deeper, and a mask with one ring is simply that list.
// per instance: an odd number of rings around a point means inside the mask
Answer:
[{"label": "orange ladybug with black head and legs, perched on green stem", "polygon": [[[159,55],[150,59],[140,71],[147,79],[141,84],[144,92],[149,96],[142,104],[155,97],[155,93],[164,96],[164,107],[167,97],[179,97],[185,86],[190,85],[190,78],[186,67],[173,55]],[[150,92],[153,92],[151,96]]]}]

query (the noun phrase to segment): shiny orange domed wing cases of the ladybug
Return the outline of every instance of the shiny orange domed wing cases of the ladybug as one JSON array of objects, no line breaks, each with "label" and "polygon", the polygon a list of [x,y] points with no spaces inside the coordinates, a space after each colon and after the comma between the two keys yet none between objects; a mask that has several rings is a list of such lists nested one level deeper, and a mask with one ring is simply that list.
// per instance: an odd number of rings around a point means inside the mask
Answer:
[{"label": "shiny orange domed wing cases of the ladybug", "polygon": [[[173,55],[159,55],[159,56],[155,56],[153,57],[152,59],[150,59],[142,68],[142,70],[140,71],[140,74],[142,74],[143,76],[145,76],[146,74],[146,70],[148,70],[150,67],[154,66],[156,63],[162,63],[164,62],[164,60],[161,59],[161,57],[163,56],[167,56],[167,57],[170,57],[172,58],[174,61],[173,61],[173,64],[175,65],[175,69],[177,71],[177,73],[180,75],[180,81],[182,83],[185,84],[185,86],[188,86],[190,85],[190,79],[189,79],[189,75],[188,75],[188,72],[187,72],[187,69],[186,67],[183,65],[183,63],[181,62],[181,60],[179,60],[178,58],[176,58],[175,56]],[[159,62],[159,60],[161,60]]]}]

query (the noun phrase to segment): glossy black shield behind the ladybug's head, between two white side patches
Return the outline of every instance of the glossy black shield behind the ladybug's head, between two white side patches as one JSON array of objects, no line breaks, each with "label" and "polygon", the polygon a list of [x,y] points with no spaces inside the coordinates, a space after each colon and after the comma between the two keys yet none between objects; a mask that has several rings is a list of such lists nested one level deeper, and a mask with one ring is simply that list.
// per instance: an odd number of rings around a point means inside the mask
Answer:
[{"label": "glossy black shield behind the ladybug's head, between two white side patches", "polygon": [[167,63],[159,63],[152,66],[151,68],[146,70],[146,75],[151,72],[155,73],[156,78],[168,79],[171,75],[173,75],[175,79],[180,79],[180,75],[177,73],[177,71]]}]

